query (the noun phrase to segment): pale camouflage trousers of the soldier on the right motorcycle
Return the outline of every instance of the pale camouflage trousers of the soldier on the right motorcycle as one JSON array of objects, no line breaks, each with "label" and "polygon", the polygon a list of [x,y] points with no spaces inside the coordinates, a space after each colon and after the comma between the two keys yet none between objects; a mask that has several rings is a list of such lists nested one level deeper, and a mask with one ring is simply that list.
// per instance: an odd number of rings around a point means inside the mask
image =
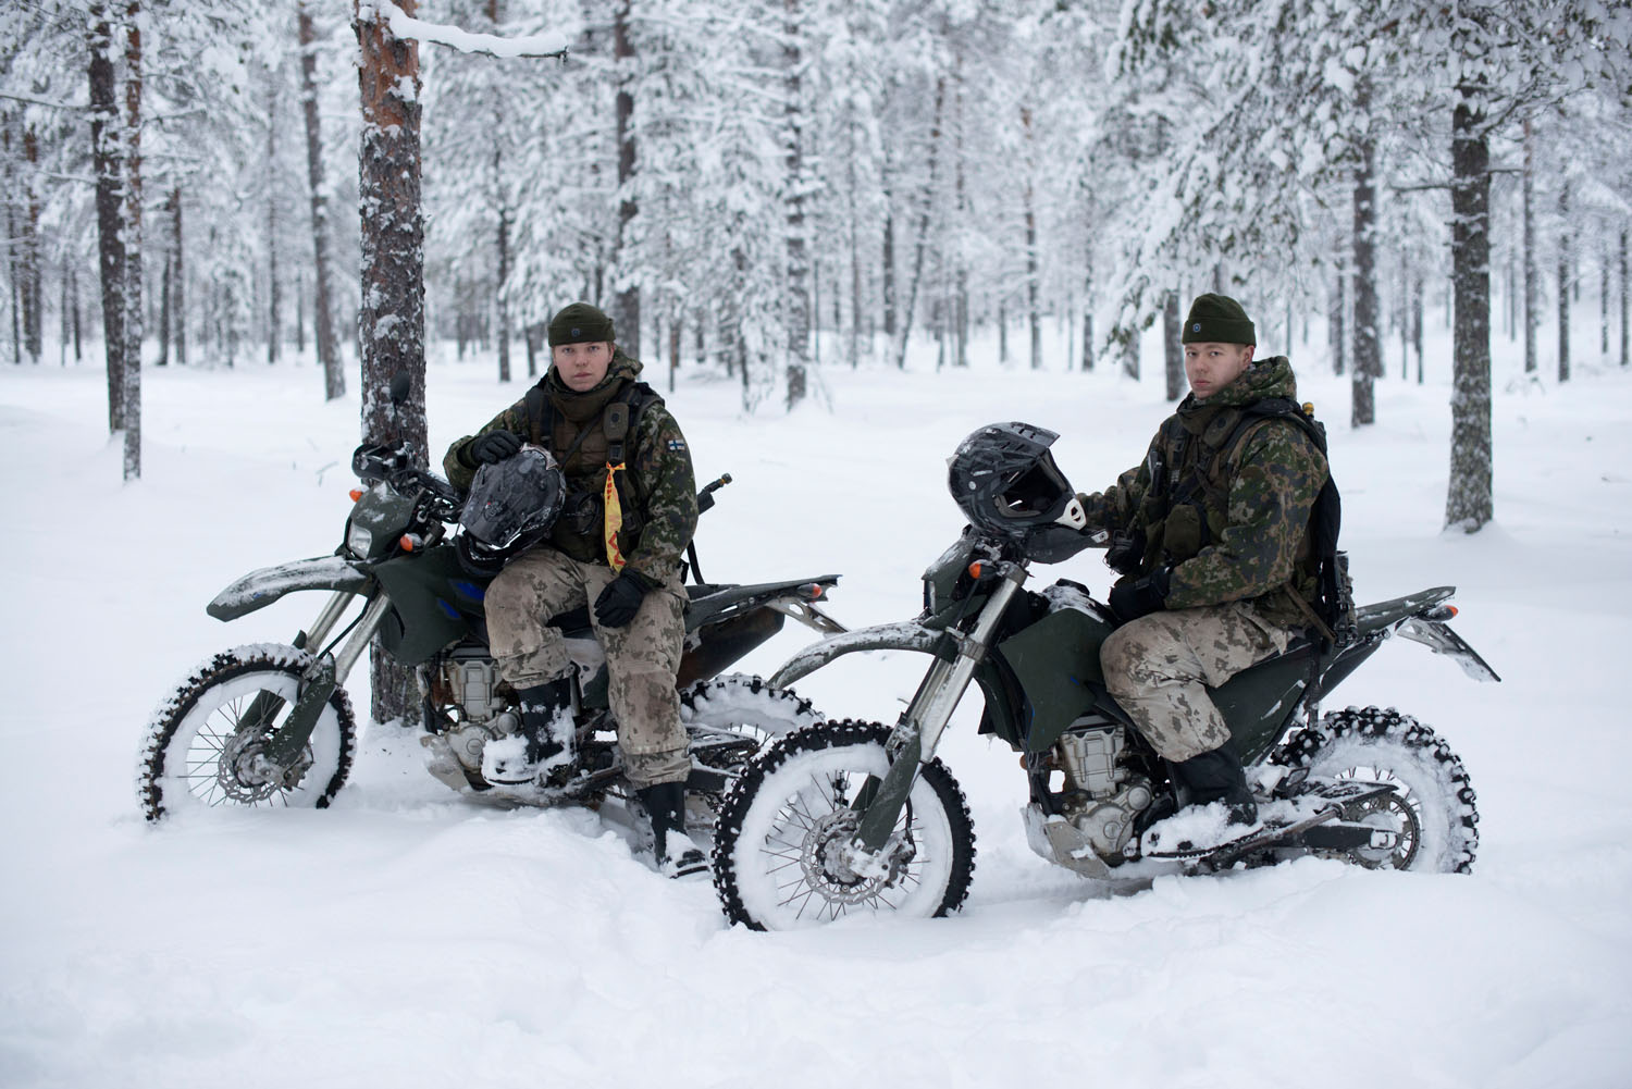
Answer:
[{"label": "pale camouflage trousers of the soldier on the right motorcycle", "polygon": [[1229,741],[1206,686],[1281,653],[1291,638],[1291,629],[1263,620],[1244,601],[1173,609],[1111,632],[1100,647],[1100,668],[1105,687],[1151,746],[1177,762]]}]

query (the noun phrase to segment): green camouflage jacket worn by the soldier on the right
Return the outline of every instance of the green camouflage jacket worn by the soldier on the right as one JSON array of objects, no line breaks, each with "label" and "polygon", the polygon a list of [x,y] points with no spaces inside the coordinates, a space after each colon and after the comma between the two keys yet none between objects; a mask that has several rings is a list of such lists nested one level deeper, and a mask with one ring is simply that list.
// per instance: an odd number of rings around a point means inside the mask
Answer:
[{"label": "green camouflage jacket worn by the soldier on the right", "polygon": [[1089,522],[1142,542],[1138,575],[1172,567],[1169,609],[1252,601],[1279,625],[1301,627],[1315,594],[1309,514],[1327,460],[1296,423],[1248,424],[1221,449],[1240,410],[1266,397],[1297,398],[1293,366],[1273,356],[1206,400],[1180,402],[1146,459],[1102,493],[1082,496]]}]

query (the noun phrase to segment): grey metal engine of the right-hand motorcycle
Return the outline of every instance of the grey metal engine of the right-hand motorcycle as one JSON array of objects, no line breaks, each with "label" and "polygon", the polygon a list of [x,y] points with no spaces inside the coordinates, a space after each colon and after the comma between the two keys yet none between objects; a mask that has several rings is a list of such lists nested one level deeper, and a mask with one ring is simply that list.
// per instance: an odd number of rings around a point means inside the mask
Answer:
[{"label": "grey metal engine of the right-hand motorcycle", "polygon": [[1066,776],[1061,815],[1105,859],[1121,856],[1134,818],[1154,798],[1149,780],[1120,764],[1126,745],[1126,728],[1100,715],[1075,720],[1054,743]]}]

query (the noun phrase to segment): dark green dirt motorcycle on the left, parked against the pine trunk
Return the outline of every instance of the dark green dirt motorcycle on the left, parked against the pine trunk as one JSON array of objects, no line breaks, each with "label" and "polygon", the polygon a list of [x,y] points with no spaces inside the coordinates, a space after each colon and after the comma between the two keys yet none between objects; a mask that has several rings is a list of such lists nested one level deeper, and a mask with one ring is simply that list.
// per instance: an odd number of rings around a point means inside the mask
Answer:
[{"label": "dark green dirt motorcycle on the left, parked against the pine trunk", "polygon": [[[353,491],[335,555],[251,571],[209,604],[209,616],[235,620],[289,593],[328,594],[292,643],[222,651],[160,704],[137,776],[149,820],[183,808],[326,807],[356,751],[344,679],[375,638],[397,663],[416,669],[426,767],[460,795],[537,807],[597,807],[609,795],[627,800],[632,789],[614,736],[605,660],[584,607],[550,619],[566,635],[574,665],[573,762],[552,769],[548,780],[483,780],[485,746],[516,735],[521,717],[516,692],[488,651],[483,594],[496,567],[468,563],[472,549],[460,524],[472,518],[467,496],[410,465],[403,449],[362,446],[353,469],[366,487]],[[698,508],[708,509],[713,491],[730,480],[703,488]],[[677,687],[692,754],[687,823],[707,842],[718,797],[746,756],[769,736],[818,720],[793,692],[725,669],[775,635],[787,617],[824,633],[844,627],[818,604],[837,575],[751,586],[705,583],[695,545],[685,567],[692,581],[685,585]],[[343,624],[349,612],[356,616]]]}]

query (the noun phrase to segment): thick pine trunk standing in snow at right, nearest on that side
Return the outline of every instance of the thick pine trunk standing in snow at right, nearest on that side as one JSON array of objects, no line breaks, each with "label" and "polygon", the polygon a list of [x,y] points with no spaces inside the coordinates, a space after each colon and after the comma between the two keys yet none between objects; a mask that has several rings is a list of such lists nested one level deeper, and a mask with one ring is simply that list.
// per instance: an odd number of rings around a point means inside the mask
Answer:
[{"label": "thick pine trunk standing in snow at right, nearest on that side", "polygon": [[1475,532],[1495,518],[1490,447],[1490,145],[1485,90],[1457,87],[1451,118],[1454,292],[1451,477],[1446,527]]}]

